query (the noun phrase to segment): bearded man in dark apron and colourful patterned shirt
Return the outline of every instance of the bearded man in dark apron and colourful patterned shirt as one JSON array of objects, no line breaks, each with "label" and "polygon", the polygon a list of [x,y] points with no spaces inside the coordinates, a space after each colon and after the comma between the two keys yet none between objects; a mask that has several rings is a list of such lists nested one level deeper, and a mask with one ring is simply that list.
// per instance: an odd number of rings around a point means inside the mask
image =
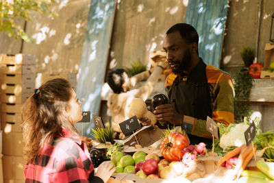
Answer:
[{"label": "bearded man in dark apron and colourful patterned shirt", "polygon": [[[166,78],[171,103],[155,108],[158,121],[181,125],[191,144],[212,145],[206,119],[234,123],[234,88],[229,73],[199,58],[199,35],[186,23],[173,25],[164,38],[163,49],[172,73]],[[149,125],[149,119],[140,120]]]}]

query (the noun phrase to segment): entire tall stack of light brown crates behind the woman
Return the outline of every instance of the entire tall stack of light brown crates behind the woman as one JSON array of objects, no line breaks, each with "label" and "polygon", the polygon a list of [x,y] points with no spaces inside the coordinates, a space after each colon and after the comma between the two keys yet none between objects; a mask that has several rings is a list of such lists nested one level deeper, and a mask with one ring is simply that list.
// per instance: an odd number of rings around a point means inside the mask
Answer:
[{"label": "entire tall stack of light brown crates behind the woman", "polygon": [[0,54],[1,130],[3,131],[3,182],[25,182],[21,108],[33,94],[36,56]]}]

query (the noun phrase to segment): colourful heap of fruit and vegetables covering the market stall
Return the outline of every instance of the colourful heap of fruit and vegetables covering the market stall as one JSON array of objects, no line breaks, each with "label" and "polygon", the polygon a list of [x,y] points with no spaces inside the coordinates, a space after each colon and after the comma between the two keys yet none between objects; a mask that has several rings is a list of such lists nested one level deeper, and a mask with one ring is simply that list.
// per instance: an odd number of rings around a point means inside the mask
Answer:
[{"label": "colourful heap of fruit and vegetables covering the market stall", "polygon": [[[256,127],[255,137],[247,145],[245,131],[251,123]],[[217,125],[219,139],[214,138],[212,149],[206,149],[205,143],[190,144],[182,129],[168,129],[158,147],[162,156],[138,148],[125,152],[125,145],[113,143],[105,153],[92,149],[90,157],[95,167],[110,160],[116,167],[114,177],[128,173],[137,178],[193,183],[274,182],[274,130],[262,132],[258,119]]]}]

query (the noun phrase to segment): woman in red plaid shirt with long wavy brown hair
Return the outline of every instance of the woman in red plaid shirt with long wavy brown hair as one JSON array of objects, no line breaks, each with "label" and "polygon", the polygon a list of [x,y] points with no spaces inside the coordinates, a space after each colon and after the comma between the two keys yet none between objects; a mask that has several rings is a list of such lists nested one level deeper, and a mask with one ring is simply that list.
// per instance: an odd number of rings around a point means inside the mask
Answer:
[{"label": "woman in red plaid shirt with long wavy brown hair", "polygon": [[107,182],[110,162],[97,172],[75,123],[82,119],[81,101],[67,80],[49,80],[23,106],[25,182]]}]

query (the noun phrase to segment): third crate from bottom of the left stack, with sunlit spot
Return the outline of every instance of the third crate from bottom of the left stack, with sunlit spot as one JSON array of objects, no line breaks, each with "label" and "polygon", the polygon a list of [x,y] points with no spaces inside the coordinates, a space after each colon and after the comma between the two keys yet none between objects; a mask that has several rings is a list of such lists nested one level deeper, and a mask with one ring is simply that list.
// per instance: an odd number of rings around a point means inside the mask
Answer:
[{"label": "third crate from bottom of the left stack, with sunlit spot", "polygon": [[1,112],[1,130],[8,132],[22,132],[22,115],[20,113]]}]

